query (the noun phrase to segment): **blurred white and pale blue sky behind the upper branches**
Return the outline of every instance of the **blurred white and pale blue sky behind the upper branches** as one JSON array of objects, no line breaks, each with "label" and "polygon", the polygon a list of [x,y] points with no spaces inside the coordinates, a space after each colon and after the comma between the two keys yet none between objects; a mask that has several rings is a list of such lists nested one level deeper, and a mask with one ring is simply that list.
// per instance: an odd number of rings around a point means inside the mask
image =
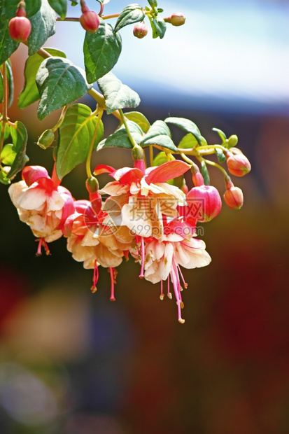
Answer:
[{"label": "blurred white and pale blue sky behind the upper branches", "polygon": [[[128,3],[111,0],[104,13],[120,12]],[[289,114],[289,1],[158,3],[164,17],[184,13],[185,25],[168,25],[162,40],[153,40],[151,33],[141,40],[134,38],[133,26],[125,27],[120,31],[122,54],[113,69],[143,102],[150,97],[157,104],[178,96],[180,105],[196,108]],[[99,10],[97,1],[87,4]],[[68,15],[79,16],[79,9],[71,7]],[[115,19],[110,22],[114,25]],[[75,39],[67,41],[65,34],[72,25]],[[57,27],[63,34],[57,45],[83,66],[83,29],[71,22],[58,22]]]}]

